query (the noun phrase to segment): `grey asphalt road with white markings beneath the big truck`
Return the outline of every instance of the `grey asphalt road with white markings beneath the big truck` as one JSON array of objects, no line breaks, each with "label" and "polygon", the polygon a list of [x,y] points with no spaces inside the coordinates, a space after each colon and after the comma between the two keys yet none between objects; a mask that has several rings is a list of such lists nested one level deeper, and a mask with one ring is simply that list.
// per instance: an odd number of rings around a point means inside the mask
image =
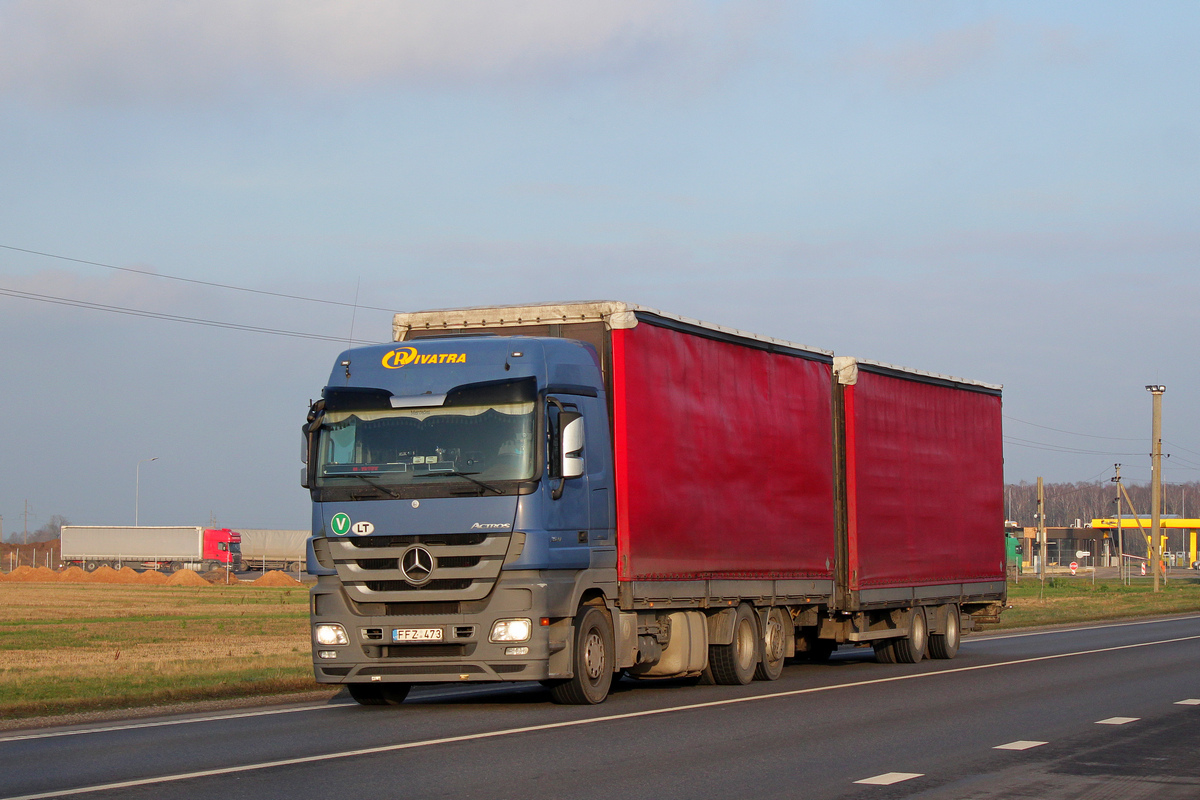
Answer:
[{"label": "grey asphalt road with white markings beneath the big truck", "polygon": [[14,798],[1200,798],[1200,615],[871,650],[775,682],[538,685],[0,735]]}]

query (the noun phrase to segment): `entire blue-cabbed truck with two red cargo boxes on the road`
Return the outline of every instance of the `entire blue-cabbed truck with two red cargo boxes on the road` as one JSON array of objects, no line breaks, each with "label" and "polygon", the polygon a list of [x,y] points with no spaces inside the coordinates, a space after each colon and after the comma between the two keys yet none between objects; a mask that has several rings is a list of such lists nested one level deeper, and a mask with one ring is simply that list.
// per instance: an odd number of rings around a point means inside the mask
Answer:
[{"label": "entire blue-cabbed truck with two red cargo boxes on the road", "polygon": [[745,684],[1006,600],[1001,387],[623,302],[396,314],[304,425],[316,679]]}]

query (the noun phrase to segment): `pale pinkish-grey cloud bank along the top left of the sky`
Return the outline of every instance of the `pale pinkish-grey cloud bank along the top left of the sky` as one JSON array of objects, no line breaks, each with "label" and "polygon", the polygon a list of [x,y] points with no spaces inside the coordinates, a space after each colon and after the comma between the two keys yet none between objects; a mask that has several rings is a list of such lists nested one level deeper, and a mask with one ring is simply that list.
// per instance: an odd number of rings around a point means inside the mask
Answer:
[{"label": "pale pinkish-grey cloud bank along the top left of the sky", "polygon": [[18,0],[0,7],[0,92],[106,102],[558,82],[727,58],[767,17],[684,0]]}]

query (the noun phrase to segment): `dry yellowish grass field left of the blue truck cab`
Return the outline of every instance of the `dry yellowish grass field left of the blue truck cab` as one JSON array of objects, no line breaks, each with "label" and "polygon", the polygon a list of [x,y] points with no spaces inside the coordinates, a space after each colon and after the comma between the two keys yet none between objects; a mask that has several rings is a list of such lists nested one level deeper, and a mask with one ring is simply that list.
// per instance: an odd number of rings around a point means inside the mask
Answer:
[{"label": "dry yellowish grass field left of the blue truck cab", "polygon": [[0,582],[0,720],[318,688],[307,589]]}]

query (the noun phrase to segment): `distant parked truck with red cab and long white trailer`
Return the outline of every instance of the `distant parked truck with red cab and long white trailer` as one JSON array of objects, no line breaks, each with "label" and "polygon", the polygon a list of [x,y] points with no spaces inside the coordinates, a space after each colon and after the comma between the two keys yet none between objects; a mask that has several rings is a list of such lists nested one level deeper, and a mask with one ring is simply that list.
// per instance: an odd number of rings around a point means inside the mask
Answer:
[{"label": "distant parked truck with red cab and long white trailer", "polygon": [[228,528],[64,525],[61,560],[88,572],[107,565],[204,572],[241,569],[241,536]]}]

